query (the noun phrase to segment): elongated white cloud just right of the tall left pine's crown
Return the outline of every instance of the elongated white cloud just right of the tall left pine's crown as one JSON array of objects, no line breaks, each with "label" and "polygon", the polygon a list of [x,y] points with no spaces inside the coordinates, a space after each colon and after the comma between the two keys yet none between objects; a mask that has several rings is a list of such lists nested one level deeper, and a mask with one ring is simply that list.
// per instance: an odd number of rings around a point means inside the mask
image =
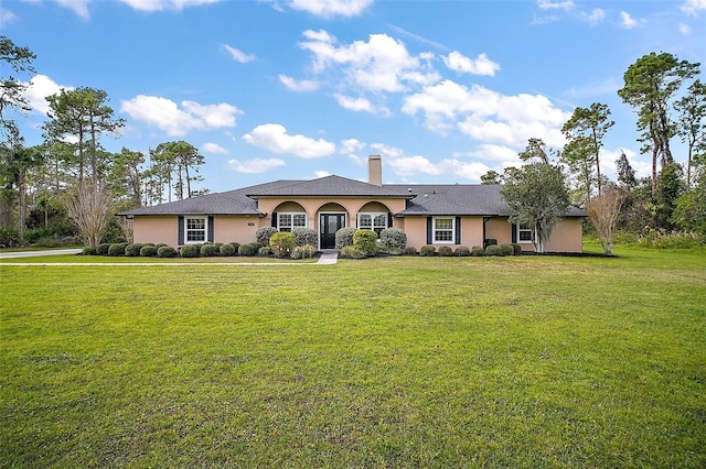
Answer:
[{"label": "elongated white cloud just right of the tall left pine's crown", "polygon": [[235,116],[242,111],[227,103],[201,105],[182,101],[181,109],[171,99],[138,95],[122,101],[120,111],[132,119],[154,126],[169,135],[184,135],[191,130],[212,130],[235,127]]}]

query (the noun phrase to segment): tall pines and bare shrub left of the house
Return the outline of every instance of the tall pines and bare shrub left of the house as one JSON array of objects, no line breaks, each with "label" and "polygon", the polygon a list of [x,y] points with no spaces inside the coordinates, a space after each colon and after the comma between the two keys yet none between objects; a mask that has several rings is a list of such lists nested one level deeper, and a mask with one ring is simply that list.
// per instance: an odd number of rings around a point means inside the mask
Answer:
[{"label": "tall pines and bare shrub left of the house", "polygon": [[[15,75],[35,73],[35,58],[0,36],[0,63],[11,70],[0,78],[0,244],[21,242],[28,227],[34,230],[30,238],[36,232],[92,238],[85,236],[87,226],[118,230],[119,210],[208,192],[197,184],[204,156],[188,142],[163,142],[147,155],[127,148],[106,151],[103,139],[119,138],[126,122],[116,118],[101,89],[62,89],[47,97],[43,142],[25,146],[14,118],[31,108],[28,85]],[[84,241],[93,246],[100,239]]]}]

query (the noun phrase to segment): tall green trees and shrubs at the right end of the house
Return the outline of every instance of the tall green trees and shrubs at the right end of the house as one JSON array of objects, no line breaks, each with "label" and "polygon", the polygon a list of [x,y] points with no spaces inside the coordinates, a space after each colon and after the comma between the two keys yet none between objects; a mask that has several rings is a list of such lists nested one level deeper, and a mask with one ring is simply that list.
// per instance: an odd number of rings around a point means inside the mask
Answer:
[{"label": "tall green trees and shrubs at the right end of the house", "polygon": [[[511,219],[532,226],[538,251],[569,204],[587,210],[606,253],[617,231],[637,237],[682,231],[706,242],[706,85],[698,79],[699,66],[651,53],[623,75],[618,96],[638,116],[640,152],[652,157],[650,176],[635,177],[624,152],[614,162],[617,181],[601,172],[600,150],[614,121],[607,105],[595,102],[576,108],[563,126],[561,150],[532,138],[520,153],[524,166],[502,175],[488,172],[481,182],[504,184]],[[674,159],[675,138],[686,149],[685,165]]]}]

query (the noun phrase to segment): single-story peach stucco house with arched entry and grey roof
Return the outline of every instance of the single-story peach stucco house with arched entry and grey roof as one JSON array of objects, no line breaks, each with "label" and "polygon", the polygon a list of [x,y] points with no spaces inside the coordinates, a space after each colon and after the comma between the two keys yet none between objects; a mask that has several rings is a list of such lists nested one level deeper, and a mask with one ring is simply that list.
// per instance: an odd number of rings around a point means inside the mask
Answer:
[{"label": "single-story peach stucco house with arched entry and grey roof", "polygon": [[[517,242],[532,251],[530,227],[509,221],[500,185],[400,185],[382,183],[382,159],[368,159],[368,182],[340,176],[311,181],[275,181],[224,193],[142,207],[119,215],[132,219],[136,243],[172,247],[205,241],[255,241],[260,227],[280,231],[309,227],[319,233],[320,250],[335,248],[343,227],[399,228],[407,244],[483,246]],[[586,212],[571,207],[545,244],[547,252],[581,252]]]}]

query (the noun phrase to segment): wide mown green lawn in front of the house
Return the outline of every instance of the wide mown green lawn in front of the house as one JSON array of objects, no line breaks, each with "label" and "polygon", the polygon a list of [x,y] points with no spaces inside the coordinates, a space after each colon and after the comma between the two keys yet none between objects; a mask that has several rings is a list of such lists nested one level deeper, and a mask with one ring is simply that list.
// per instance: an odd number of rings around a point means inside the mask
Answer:
[{"label": "wide mown green lawn in front of the house", "polygon": [[617,253],[0,264],[0,466],[704,467],[706,257]]}]

